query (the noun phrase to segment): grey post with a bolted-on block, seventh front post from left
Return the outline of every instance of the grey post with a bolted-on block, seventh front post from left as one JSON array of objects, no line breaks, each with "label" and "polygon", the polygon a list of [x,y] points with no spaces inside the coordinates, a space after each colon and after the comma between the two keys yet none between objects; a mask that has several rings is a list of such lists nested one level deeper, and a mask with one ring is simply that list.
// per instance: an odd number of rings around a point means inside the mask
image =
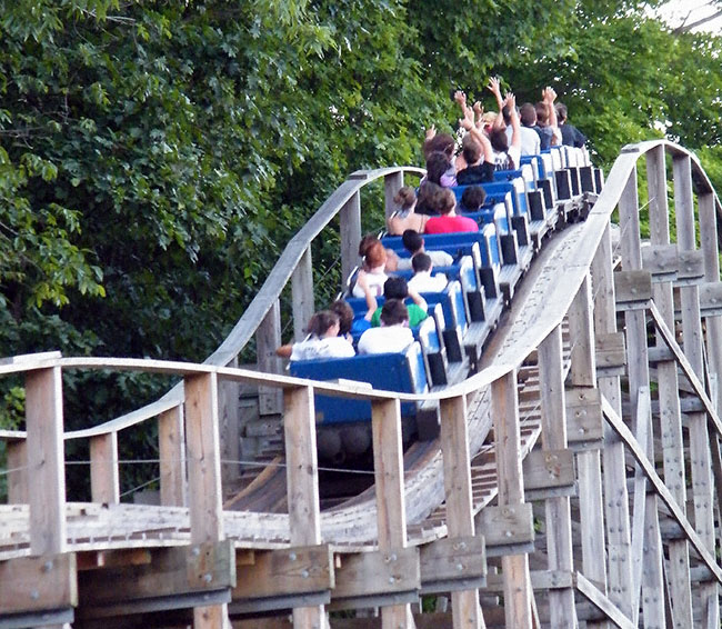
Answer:
[{"label": "grey post with a bolted-on block, seventh front post from left", "polygon": [[[539,346],[539,380],[541,393],[542,451],[531,452],[524,460],[524,487],[535,482],[574,483],[574,457],[566,449],[566,408],[564,396],[564,366],[562,356],[562,330],[558,326]],[[533,456],[540,455],[542,477],[537,479],[527,472]],[[529,463],[528,463],[529,461]],[[551,498],[545,503],[546,552],[549,571],[573,570],[571,510],[569,498]],[[532,586],[533,586],[532,577]],[[563,591],[549,592],[550,627],[574,629],[576,615],[574,591],[571,583]]]}]

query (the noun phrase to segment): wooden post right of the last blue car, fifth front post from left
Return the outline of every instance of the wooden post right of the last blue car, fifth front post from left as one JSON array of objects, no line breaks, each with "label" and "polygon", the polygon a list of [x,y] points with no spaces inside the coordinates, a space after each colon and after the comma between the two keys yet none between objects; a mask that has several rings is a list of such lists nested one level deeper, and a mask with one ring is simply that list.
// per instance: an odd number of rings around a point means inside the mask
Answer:
[{"label": "wooden post right of the last blue car, fifth front post from left", "polygon": [[[467,398],[441,400],[441,450],[449,538],[474,535]],[[484,619],[478,590],[451,592],[454,629],[480,629]]]}]

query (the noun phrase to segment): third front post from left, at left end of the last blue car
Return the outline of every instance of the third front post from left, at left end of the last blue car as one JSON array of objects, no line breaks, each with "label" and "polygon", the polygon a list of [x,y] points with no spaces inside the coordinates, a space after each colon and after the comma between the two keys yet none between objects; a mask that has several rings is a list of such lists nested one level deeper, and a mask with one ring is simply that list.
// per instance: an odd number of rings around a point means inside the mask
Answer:
[{"label": "third front post from left, at left end of the last blue car", "polygon": [[[283,402],[291,545],[315,546],[321,543],[321,508],[313,389],[311,387],[285,389]],[[293,609],[293,627],[302,629],[327,627],[323,606]]]}]

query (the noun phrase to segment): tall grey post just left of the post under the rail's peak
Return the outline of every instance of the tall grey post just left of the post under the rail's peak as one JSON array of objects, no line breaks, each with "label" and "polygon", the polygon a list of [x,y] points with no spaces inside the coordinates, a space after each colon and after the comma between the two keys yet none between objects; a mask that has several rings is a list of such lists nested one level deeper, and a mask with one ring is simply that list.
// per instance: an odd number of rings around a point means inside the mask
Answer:
[{"label": "tall grey post just left of the post under the rail's peak", "polygon": [[[620,228],[622,230],[622,238],[620,241],[622,252],[622,264],[625,270],[641,270],[642,269],[642,251],[640,240],[640,221],[639,221],[639,199],[636,193],[636,169],[632,171],[630,178],[622,191],[619,203],[620,212]],[[628,356],[628,371],[629,371],[629,389],[630,389],[630,412],[635,420],[638,413],[639,391],[646,390],[650,386],[649,375],[649,358],[646,350],[646,322],[645,314],[642,310],[628,310],[624,312],[624,322],[626,328],[626,356]],[[636,423],[636,421],[634,421]],[[640,433],[635,430],[635,433]],[[649,427],[649,442],[642,443],[650,460],[654,460],[653,456],[653,436],[652,427]],[[665,622],[664,610],[664,580],[662,576],[662,540],[659,530],[659,513],[656,493],[645,496],[644,487],[642,483],[645,481],[640,480],[639,483],[639,501],[634,502],[635,512],[634,520],[643,522],[643,530],[640,535],[643,538],[635,539],[632,536],[632,553],[634,557],[635,545],[642,545],[644,552],[641,557],[643,562],[643,595],[642,608],[644,611],[644,626],[645,627],[662,627]],[[638,512],[638,509],[640,510]],[[643,510],[643,513],[642,513]],[[633,581],[634,582],[634,581]],[[638,585],[638,583],[635,583]],[[649,596],[648,596],[649,595]],[[632,602],[634,603],[639,592],[632,592]],[[632,609],[632,620],[639,613],[639,609]]]}]

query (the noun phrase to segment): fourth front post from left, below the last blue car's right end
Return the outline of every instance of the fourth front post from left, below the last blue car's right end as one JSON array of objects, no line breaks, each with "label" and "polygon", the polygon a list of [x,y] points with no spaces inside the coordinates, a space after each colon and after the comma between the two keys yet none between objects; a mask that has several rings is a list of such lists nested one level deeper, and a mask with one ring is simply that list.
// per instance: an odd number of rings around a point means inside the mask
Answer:
[{"label": "fourth front post from left, below the last blue car's right end", "polygon": [[[401,441],[401,406],[399,400],[371,403],[373,437],[373,473],[377,491],[379,550],[407,547],[407,507],[403,491],[403,443]],[[411,606],[381,608],[382,629],[413,629]]]}]

